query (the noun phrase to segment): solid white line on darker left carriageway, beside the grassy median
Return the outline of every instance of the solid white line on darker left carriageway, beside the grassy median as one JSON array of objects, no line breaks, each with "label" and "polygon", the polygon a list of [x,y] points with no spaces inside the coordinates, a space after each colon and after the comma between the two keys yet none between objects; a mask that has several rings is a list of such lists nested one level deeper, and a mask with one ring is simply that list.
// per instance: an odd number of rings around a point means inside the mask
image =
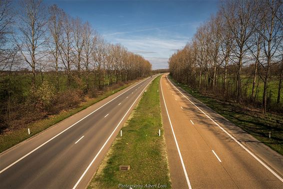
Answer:
[{"label": "solid white line on darker left carriageway, beside the grassy median", "polygon": [[[158,76],[158,75],[157,75]],[[157,77],[156,76],[156,77]],[[156,77],[154,77],[153,79],[155,79]],[[152,80],[153,80],[152,79]],[[151,80],[151,81],[152,81]],[[75,185],[72,187],[72,189],[75,189],[76,186],[79,184],[80,180],[83,178],[83,176],[86,174],[87,170],[90,168],[90,166],[92,165],[92,163],[95,161],[95,159],[97,158],[97,156],[99,155],[99,153],[102,151],[102,149],[104,148],[104,146],[106,145],[106,143],[109,141],[109,139],[111,138],[111,136],[114,134],[115,130],[118,128],[118,126],[120,125],[120,123],[122,122],[122,120],[124,119],[124,117],[126,116],[126,114],[128,113],[128,111],[131,109],[131,107],[134,105],[134,103],[136,102],[136,100],[139,98],[139,96],[143,93],[143,91],[145,90],[145,88],[150,84],[150,82],[148,82],[148,84],[143,88],[143,90],[140,92],[140,94],[137,96],[137,98],[134,100],[134,102],[131,104],[131,106],[129,107],[129,109],[126,111],[126,113],[124,114],[124,116],[122,117],[122,119],[120,120],[120,122],[117,124],[117,126],[115,127],[115,129],[112,131],[112,133],[110,134],[110,136],[107,138],[107,140],[105,141],[105,143],[102,145],[102,147],[100,148],[100,150],[97,152],[97,154],[95,155],[95,157],[92,159],[92,161],[89,163],[89,165],[86,167],[86,169],[84,170],[84,172],[82,173],[82,175],[79,177],[79,179],[77,180],[77,182],[75,183]]]}]

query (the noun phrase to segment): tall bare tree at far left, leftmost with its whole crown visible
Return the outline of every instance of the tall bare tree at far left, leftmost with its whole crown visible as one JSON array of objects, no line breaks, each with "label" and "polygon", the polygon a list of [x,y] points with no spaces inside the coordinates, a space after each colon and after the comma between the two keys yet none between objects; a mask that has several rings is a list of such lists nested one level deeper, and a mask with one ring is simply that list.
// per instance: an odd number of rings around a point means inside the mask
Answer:
[{"label": "tall bare tree at far left, leftmost with its whole crown visible", "polygon": [[17,11],[19,34],[14,35],[14,42],[32,71],[33,86],[35,86],[36,65],[46,56],[44,49],[46,22],[47,11],[41,1],[23,0],[19,2]]}]

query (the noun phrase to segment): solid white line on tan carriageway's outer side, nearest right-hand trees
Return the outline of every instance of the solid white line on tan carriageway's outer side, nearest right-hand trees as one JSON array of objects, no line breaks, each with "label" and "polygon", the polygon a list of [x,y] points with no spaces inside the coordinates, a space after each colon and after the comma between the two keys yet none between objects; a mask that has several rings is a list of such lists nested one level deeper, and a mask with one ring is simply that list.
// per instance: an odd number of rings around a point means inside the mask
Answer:
[{"label": "solid white line on tan carriageway's outer side, nearest right-hand trees", "polygon": [[[166,75],[167,80],[171,83]],[[172,83],[171,85],[177,89]],[[194,105],[201,113],[203,113],[206,117],[208,117],[215,125],[217,125],[222,131],[224,131],[230,138],[232,138],[238,145],[240,145],[245,151],[247,151],[253,158],[255,158],[260,164],[262,164],[267,170],[269,170],[274,176],[276,176],[281,182],[283,182],[283,178],[281,178],[275,171],[273,171],[270,167],[268,167],[263,161],[261,161],[256,155],[254,155],[249,149],[247,149],[244,145],[242,145],[237,139],[235,139],[230,133],[228,133],[223,127],[221,127],[218,123],[216,123],[212,118],[210,118],[206,113],[204,113],[199,107],[197,107],[192,101],[190,101],[179,89],[177,89],[179,93],[181,93],[192,105]]]}]

